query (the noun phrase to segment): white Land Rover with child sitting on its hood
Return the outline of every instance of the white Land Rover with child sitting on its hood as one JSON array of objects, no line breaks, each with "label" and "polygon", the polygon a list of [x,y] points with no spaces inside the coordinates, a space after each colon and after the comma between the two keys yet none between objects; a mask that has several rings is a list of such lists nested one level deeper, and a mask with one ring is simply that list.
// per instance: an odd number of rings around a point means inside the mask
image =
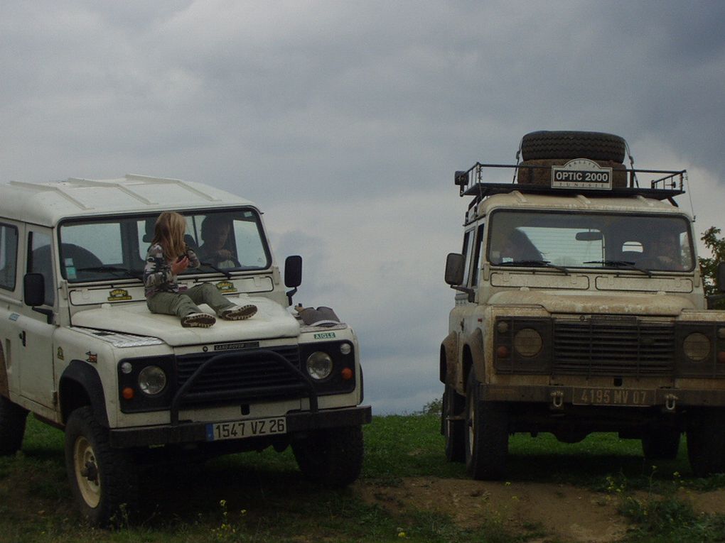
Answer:
[{"label": "white Land Rover with child sitting on its hood", "polygon": [[[205,219],[230,225],[231,267],[180,284],[254,303],[251,319],[184,328],[149,312],[144,261],[165,210],[186,216],[191,248]],[[20,448],[29,411],[64,429],[72,493],[96,525],[132,511],[138,468],[170,456],[291,446],[307,478],[354,481],[370,421],[357,337],[329,308],[291,309],[302,258],[284,272],[287,292],[257,207],[206,185],[0,185],[0,454]]]}]

